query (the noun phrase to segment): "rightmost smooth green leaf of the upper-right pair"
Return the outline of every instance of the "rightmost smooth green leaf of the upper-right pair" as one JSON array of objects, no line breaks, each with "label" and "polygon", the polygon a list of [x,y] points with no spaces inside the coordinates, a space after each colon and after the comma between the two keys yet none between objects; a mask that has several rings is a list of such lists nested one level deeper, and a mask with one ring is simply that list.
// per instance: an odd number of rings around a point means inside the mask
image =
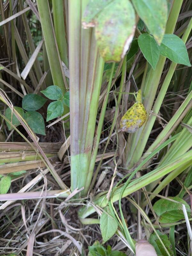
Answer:
[{"label": "rightmost smooth green leaf of the upper-right pair", "polygon": [[171,61],[191,66],[185,43],[180,37],[173,34],[165,34],[159,49],[160,54]]}]

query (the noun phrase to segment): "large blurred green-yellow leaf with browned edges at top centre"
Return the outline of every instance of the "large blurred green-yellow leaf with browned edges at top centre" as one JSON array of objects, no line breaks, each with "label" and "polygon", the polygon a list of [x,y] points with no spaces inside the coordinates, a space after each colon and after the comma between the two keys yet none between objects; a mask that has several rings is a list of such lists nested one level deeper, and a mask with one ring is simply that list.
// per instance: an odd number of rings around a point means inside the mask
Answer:
[{"label": "large blurred green-yellow leaf with browned edges at top centre", "polygon": [[98,14],[95,37],[105,62],[119,62],[135,32],[135,12],[129,0],[114,0]]}]

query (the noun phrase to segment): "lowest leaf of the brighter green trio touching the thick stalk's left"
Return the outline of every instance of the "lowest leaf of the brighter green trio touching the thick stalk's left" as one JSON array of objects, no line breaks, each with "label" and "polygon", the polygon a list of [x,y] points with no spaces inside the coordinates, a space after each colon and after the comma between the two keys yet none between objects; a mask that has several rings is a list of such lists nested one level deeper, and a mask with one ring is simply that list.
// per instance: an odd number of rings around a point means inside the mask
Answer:
[{"label": "lowest leaf of the brighter green trio touching the thick stalk's left", "polygon": [[47,108],[47,121],[62,115],[63,111],[64,111],[64,106],[61,101],[54,101],[50,103]]}]

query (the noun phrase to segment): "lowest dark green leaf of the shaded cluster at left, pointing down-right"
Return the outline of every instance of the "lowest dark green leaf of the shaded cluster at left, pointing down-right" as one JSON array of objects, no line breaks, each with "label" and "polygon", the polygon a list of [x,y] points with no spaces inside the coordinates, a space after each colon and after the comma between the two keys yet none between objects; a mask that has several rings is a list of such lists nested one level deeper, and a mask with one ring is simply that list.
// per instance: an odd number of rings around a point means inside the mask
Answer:
[{"label": "lowest dark green leaf of the shaded cluster at left, pointing down-right", "polygon": [[28,111],[25,113],[25,120],[35,133],[45,135],[44,119],[40,113]]}]

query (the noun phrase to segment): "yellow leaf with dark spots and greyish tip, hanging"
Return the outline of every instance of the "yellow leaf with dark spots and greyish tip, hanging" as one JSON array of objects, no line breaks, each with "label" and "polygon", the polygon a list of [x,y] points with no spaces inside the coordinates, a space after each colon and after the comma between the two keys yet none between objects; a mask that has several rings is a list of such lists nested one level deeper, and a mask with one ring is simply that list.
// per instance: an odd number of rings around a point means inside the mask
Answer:
[{"label": "yellow leaf with dark spots and greyish tip, hanging", "polygon": [[147,111],[141,103],[141,92],[138,91],[137,102],[124,114],[120,121],[120,128],[123,132],[134,133],[146,121]]}]

